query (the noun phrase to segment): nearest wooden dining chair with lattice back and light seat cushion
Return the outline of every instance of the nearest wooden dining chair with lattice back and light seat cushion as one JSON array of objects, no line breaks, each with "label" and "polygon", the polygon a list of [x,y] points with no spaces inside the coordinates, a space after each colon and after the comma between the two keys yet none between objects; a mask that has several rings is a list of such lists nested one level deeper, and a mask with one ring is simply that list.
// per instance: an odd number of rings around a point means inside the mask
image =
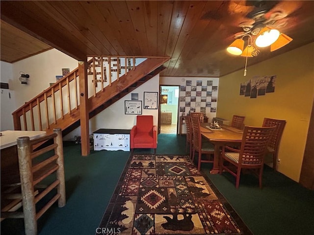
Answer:
[{"label": "nearest wooden dining chair with lattice back and light seat cushion", "polygon": [[[260,188],[262,188],[264,155],[274,129],[275,126],[245,126],[240,149],[223,146],[220,157],[220,174],[226,170],[235,176],[235,188],[239,187],[241,169],[243,168],[252,170],[258,176]],[[225,162],[229,164],[225,165]]]}]

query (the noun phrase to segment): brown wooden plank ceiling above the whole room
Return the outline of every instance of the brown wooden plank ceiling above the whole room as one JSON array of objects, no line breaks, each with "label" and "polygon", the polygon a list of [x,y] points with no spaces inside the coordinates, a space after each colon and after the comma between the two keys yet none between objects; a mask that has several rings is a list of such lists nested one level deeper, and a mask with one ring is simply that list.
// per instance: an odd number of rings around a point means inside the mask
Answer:
[{"label": "brown wooden plank ceiling above the whole room", "polygon": [[[259,5],[257,5],[257,3]],[[293,41],[261,49],[248,65],[314,41],[314,1],[5,1],[1,60],[15,62],[51,47],[77,60],[91,55],[169,56],[164,76],[222,76],[244,67],[225,48],[261,5]],[[13,26],[14,27],[13,27]],[[280,62],[278,62],[280,63]]]}]

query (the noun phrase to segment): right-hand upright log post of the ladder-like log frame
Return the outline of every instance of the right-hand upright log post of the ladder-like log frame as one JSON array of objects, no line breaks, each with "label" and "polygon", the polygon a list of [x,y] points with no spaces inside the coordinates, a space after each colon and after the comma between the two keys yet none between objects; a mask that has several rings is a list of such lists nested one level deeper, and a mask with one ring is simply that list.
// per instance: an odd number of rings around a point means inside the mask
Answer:
[{"label": "right-hand upright log post of the ladder-like log frame", "polygon": [[64,160],[63,160],[63,144],[62,144],[62,131],[61,128],[53,129],[53,133],[57,136],[53,138],[54,143],[58,146],[54,149],[54,154],[58,155],[56,163],[59,165],[56,175],[57,179],[60,181],[58,185],[58,193],[60,193],[60,198],[58,199],[58,207],[65,206],[65,180],[64,180]]}]

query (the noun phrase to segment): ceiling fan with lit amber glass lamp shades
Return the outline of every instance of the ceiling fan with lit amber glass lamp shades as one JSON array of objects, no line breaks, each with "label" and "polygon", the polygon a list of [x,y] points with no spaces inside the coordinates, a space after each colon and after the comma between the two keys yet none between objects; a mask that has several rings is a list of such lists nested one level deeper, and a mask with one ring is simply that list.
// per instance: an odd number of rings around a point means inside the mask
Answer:
[{"label": "ceiling fan with lit amber glass lamp shades", "polygon": [[[235,41],[227,48],[229,53],[253,57],[260,54],[258,47],[270,46],[270,51],[274,51],[292,41],[278,29],[287,24],[288,13],[293,12],[299,5],[291,5],[283,1],[246,2],[250,5],[253,4],[255,8],[246,15],[246,20],[238,25],[243,31],[235,33]],[[243,38],[246,36],[248,42],[244,49]]]}]

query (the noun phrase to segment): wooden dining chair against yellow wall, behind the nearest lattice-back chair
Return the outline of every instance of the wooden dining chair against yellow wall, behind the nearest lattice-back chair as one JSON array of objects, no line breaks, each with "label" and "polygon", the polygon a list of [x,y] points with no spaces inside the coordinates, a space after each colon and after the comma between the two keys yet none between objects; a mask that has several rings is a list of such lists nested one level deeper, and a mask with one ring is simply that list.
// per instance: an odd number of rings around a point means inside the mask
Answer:
[{"label": "wooden dining chair against yellow wall, behind the nearest lattice-back chair", "polygon": [[283,135],[286,120],[278,120],[272,118],[264,118],[262,126],[276,126],[276,129],[273,131],[271,138],[268,142],[267,153],[270,153],[273,157],[273,169],[277,170],[277,157],[279,151],[279,144],[281,141],[281,137]]}]

